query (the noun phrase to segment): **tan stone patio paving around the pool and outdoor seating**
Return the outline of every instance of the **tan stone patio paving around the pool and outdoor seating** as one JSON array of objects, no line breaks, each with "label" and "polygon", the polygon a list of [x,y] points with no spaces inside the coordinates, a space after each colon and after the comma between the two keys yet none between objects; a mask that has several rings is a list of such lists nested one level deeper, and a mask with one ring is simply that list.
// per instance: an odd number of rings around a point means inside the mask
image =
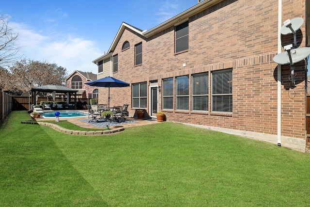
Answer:
[{"label": "tan stone patio paving around the pool and outdoor seating", "polygon": [[[81,110],[83,111],[83,110]],[[87,112],[87,111],[84,111],[84,112]],[[79,127],[84,127],[84,128],[95,128],[95,129],[98,129],[99,127],[95,127],[89,123],[85,123],[85,122],[82,122],[80,121],[79,119],[82,119],[82,118],[88,118],[88,115],[87,116],[82,116],[82,117],[71,117],[71,118],[68,118],[68,117],[59,117],[59,120],[67,120],[68,122],[71,122],[72,124],[75,124],[75,125],[78,125]],[[124,127],[124,128],[128,128],[128,127],[138,127],[138,126],[143,126],[143,125],[149,125],[149,124],[156,124],[156,123],[160,123],[160,122],[157,122],[155,118],[153,119],[148,119],[148,120],[145,120],[145,119],[137,119],[137,118],[133,118],[133,117],[126,117],[126,119],[128,120],[135,120],[135,121],[138,121],[137,123],[132,123],[132,124],[124,124],[124,125],[118,125],[118,126],[110,126],[110,129],[115,129],[115,128],[119,128],[119,127]],[[37,118],[36,119],[37,121],[55,121],[56,118],[53,117],[53,118]]]}]

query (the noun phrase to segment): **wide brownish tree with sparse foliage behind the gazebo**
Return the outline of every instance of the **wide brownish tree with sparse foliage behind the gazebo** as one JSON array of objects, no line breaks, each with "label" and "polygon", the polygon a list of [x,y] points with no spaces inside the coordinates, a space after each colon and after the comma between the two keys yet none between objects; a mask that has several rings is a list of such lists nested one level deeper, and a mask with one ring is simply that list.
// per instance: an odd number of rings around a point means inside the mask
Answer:
[{"label": "wide brownish tree with sparse foliage behind the gazebo", "polygon": [[30,93],[31,88],[37,86],[63,85],[67,77],[66,68],[27,59],[16,62],[13,66],[9,66],[9,72],[4,69],[2,73],[6,75],[3,90],[24,93]]}]

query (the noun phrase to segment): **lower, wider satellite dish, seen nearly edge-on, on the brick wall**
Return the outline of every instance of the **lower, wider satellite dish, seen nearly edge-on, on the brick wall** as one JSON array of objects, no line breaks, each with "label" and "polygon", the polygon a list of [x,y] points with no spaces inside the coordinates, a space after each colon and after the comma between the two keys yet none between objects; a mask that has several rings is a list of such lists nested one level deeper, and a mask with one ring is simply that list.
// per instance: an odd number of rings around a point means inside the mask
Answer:
[{"label": "lower, wider satellite dish, seen nearly edge-on, on the brick wall", "polygon": [[292,63],[297,63],[310,55],[310,48],[295,48],[290,51],[281,52],[272,60],[277,64],[291,64],[288,52],[291,52]]}]

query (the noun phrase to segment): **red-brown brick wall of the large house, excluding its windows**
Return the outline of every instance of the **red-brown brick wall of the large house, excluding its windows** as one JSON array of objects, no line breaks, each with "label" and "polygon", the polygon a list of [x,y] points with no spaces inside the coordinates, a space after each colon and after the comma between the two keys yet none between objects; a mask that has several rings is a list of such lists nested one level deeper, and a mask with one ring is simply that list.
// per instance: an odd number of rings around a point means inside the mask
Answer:
[{"label": "red-brown brick wall of the large house, excluding its windows", "polygon": [[[282,4],[282,22],[305,17],[304,0],[283,0]],[[301,32],[305,34],[305,24]],[[130,43],[130,48],[122,51],[125,41]],[[140,42],[142,65],[135,66],[135,45]],[[304,46],[305,35],[300,44]],[[233,68],[232,114],[166,110],[167,120],[276,135],[278,64],[272,59],[277,51],[278,1],[226,0],[189,18],[189,49],[180,54],[174,54],[174,27],[150,38],[125,30],[113,51],[113,55],[118,54],[119,68],[113,76],[129,83],[148,81],[149,84],[158,80],[161,85],[163,78],[200,72],[211,75],[215,70]],[[288,78],[290,67],[282,67],[282,136],[305,138],[304,65],[300,62],[295,66],[297,87],[294,89],[290,88]],[[128,103],[129,115],[134,114],[130,108],[131,87],[114,88],[110,94],[110,105]],[[160,91],[159,110],[161,96]]]}]

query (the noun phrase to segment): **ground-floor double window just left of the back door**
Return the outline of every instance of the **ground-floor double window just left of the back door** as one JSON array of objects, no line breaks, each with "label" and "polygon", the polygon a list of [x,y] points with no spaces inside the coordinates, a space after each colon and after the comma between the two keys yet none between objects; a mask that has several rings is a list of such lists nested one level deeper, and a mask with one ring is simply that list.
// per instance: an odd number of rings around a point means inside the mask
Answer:
[{"label": "ground-floor double window just left of the back door", "polygon": [[146,82],[132,84],[132,107],[146,108],[147,100],[147,84]]}]

